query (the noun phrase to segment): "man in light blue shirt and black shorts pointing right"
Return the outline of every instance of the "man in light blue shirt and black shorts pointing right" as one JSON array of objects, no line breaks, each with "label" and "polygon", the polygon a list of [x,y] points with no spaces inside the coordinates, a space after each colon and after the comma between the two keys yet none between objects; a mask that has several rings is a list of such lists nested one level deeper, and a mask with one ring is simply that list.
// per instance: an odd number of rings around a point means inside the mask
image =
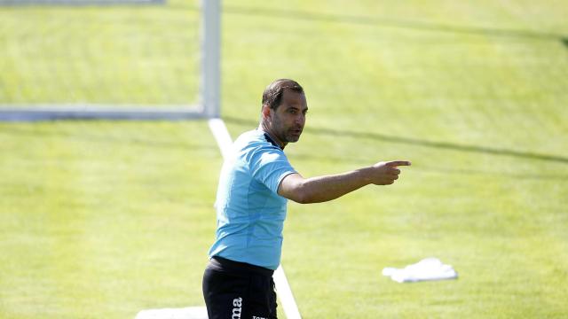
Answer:
[{"label": "man in light blue shirt and black shorts pointing right", "polygon": [[209,250],[203,296],[209,319],[276,318],[272,273],[280,264],[287,200],[317,203],[365,185],[398,179],[407,161],[379,162],[337,175],[304,178],[283,150],[297,142],[308,111],[304,89],[280,79],[264,89],[256,130],[233,144],[217,189],[217,239]]}]

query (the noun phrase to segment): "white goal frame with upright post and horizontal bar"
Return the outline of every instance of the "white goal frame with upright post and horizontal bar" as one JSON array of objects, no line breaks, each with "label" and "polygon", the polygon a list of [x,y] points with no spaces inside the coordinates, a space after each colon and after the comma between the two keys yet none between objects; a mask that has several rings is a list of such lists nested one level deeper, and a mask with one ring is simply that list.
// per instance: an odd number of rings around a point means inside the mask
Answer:
[{"label": "white goal frame with upright post and horizontal bar", "polygon": [[0,121],[187,120],[221,114],[221,0],[201,0],[201,70],[197,105],[0,104]]}]

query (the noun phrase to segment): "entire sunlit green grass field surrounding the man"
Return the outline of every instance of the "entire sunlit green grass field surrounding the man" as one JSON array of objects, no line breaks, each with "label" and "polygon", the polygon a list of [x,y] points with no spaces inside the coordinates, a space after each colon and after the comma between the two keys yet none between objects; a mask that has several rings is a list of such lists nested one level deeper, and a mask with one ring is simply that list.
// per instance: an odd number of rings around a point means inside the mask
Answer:
[{"label": "entire sunlit green grass field surrounding the man", "polygon": [[[198,32],[161,30],[197,27],[197,7],[1,7],[0,104],[184,102]],[[393,186],[289,205],[282,262],[305,318],[568,314],[567,13],[552,0],[225,2],[233,137],[256,126],[264,86],[291,77],[310,106],[287,147],[303,175],[413,161]],[[0,123],[0,317],[203,304],[221,160],[202,121]],[[381,275],[430,256],[460,278]]]}]

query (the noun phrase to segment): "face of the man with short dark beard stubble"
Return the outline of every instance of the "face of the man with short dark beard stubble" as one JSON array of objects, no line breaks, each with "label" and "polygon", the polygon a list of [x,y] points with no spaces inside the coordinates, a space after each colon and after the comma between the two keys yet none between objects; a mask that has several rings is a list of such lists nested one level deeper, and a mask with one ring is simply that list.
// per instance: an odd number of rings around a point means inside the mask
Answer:
[{"label": "face of the man with short dark beard stubble", "polygon": [[308,112],[304,93],[285,89],[281,104],[276,110],[270,111],[272,134],[284,144],[297,142],[302,135],[305,114]]}]

